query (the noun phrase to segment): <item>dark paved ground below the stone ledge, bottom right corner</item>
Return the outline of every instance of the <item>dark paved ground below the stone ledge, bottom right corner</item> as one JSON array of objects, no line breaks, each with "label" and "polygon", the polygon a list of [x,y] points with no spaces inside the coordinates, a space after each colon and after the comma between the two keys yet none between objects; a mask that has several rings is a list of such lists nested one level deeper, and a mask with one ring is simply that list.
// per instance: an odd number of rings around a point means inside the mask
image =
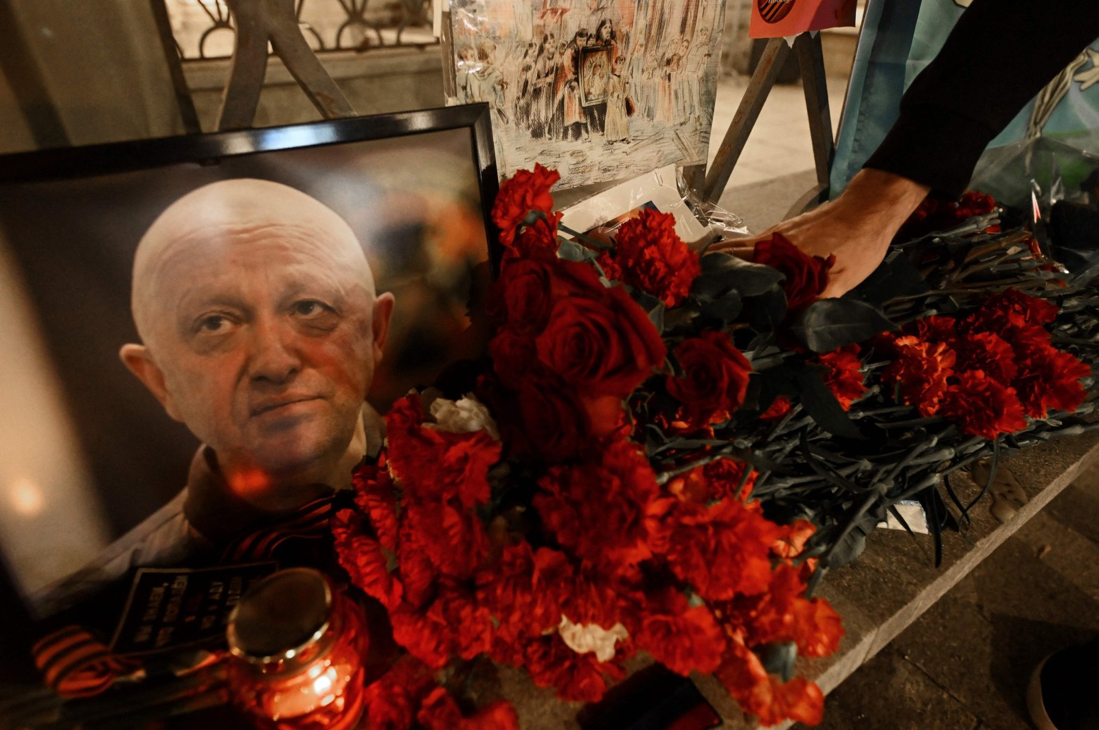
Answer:
[{"label": "dark paved ground below the stone ledge, bottom right corner", "polygon": [[1065,489],[825,704],[820,730],[1025,730],[1050,652],[1099,633],[1099,471]]}]

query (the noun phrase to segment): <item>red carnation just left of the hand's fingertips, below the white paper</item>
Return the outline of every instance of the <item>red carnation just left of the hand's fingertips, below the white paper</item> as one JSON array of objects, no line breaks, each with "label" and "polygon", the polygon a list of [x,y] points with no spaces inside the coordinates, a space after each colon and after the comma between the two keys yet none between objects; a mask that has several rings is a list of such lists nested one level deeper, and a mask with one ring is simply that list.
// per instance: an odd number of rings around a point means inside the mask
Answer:
[{"label": "red carnation just left of the hand's fingertips, below the white paper", "polygon": [[608,278],[647,291],[668,307],[686,299],[702,273],[698,254],[676,233],[675,215],[651,208],[622,223],[613,253],[601,254],[599,263]]}]

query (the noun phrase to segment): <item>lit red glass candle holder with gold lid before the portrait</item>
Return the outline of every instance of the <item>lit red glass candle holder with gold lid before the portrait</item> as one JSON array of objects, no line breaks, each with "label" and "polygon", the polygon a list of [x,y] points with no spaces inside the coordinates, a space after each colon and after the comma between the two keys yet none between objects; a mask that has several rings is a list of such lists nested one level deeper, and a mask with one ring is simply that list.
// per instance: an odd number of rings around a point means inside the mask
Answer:
[{"label": "lit red glass candle holder with gold lid before the portrait", "polygon": [[279,571],[248,589],[227,629],[233,701],[259,728],[353,728],[363,715],[362,609],[318,571]]}]

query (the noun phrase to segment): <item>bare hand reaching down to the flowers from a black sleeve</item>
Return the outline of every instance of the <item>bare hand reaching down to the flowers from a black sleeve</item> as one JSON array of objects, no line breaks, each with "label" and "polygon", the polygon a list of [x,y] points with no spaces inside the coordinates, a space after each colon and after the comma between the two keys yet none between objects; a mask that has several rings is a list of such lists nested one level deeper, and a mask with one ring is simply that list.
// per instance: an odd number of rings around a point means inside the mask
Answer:
[{"label": "bare hand reaching down to the flowers from a black sleeve", "polygon": [[926,197],[928,189],[892,173],[863,169],[835,200],[782,221],[759,235],[722,241],[710,250],[750,258],[757,242],[781,233],[810,256],[835,255],[828,288],[821,297],[839,297],[877,268],[889,242]]}]

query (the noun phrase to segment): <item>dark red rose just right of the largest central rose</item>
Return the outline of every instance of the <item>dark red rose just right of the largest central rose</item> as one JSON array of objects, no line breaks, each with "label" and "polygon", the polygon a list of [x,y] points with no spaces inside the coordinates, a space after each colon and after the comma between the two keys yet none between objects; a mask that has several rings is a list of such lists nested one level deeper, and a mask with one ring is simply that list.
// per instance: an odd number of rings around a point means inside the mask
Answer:
[{"label": "dark red rose just right of the largest central rose", "polygon": [[693,428],[726,420],[744,402],[752,365],[725,332],[707,331],[675,350],[682,376],[668,376],[667,388],[682,403]]}]

